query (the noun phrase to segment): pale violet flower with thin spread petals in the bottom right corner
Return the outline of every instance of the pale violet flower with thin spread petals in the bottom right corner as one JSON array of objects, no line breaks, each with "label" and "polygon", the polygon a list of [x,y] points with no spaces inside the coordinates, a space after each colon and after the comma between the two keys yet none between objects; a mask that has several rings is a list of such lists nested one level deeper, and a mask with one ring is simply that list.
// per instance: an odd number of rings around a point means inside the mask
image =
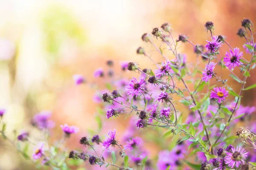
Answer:
[{"label": "pale violet flower with thin spread petals in the bottom right corner", "polygon": [[239,167],[240,164],[244,164],[244,159],[247,157],[247,152],[243,147],[239,146],[236,149],[233,147],[231,153],[227,153],[224,160],[229,167]]}]

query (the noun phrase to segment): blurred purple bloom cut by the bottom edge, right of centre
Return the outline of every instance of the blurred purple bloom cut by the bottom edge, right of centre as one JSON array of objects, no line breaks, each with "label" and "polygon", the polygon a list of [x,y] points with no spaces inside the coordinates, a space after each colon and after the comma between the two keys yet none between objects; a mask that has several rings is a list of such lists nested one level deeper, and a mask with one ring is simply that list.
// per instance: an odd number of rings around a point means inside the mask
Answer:
[{"label": "blurred purple bloom cut by the bottom edge, right of centre", "polygon": [[157,168],[158,170],[166,170],[171,166],[169,170],[176,169],[174,167],[176,160],[172,152],[168,150],[161,151],[158,155]]}]

